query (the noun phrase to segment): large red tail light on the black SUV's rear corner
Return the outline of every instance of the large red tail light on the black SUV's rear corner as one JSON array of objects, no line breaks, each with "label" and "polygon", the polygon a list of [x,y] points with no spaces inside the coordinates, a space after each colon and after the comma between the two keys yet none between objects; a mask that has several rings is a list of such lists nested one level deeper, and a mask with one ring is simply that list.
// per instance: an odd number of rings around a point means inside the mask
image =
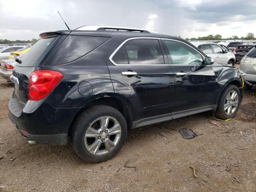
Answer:
[{"label": "large red tail light on the black SUV's rear corner", "polygon": [[60,82],[63,74],[52,70],[37,70],[30,74],[28,99],[41,100],[46,97]]}]

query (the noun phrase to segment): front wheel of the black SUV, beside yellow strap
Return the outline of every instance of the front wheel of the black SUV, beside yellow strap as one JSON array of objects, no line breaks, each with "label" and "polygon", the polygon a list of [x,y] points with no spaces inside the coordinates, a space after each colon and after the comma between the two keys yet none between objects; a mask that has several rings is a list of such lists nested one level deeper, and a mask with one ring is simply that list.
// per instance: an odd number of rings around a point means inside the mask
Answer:
[{"label": "front wheel of the black SUV, beside yellow strap", "polygon": [[[235,99],[234,99],[235,102],[232,101],[232,103],[231,103],[231,105],[232,105],[231,112],[232,113],[229,113],[230,112],[230,110],[229,110],[230,101],[226,100],[226,98],[227,98],[228,94],[230,94],[230,92],[237,93],[237,97],[235,97]],[[231,94],[231,97],[232,97],[232,94]],[[219,103],[218,103],[216,111],[214,112],[214,116],[216,118],[219,118],[222,120],[233,118],[236,115],[236,113],[240,107],[240,103],[241,103],[240,90],[238,89],[237,86],[229,84],[226,86],[226,88],[223,90],[222,94],[220,95]],[[224,104],[225,104],[225,107],[228,106],[228,108],[226,108],[226,110],[224,110]]]}]

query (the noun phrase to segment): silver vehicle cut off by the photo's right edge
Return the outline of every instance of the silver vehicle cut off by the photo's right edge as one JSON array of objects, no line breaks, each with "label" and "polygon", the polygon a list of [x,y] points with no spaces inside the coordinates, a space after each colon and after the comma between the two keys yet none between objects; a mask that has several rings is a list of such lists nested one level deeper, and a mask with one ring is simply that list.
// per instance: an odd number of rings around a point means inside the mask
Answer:
[{"label": "silver vehicle cut off by the photo's right edge", "polygon": [[253,84],[256,84],[256,48],[251,50],[242,58],[240,62],[240,71],[246,73],[244,80],[248,81],[252,85],[245,84],[245,89],[250,90]]}]

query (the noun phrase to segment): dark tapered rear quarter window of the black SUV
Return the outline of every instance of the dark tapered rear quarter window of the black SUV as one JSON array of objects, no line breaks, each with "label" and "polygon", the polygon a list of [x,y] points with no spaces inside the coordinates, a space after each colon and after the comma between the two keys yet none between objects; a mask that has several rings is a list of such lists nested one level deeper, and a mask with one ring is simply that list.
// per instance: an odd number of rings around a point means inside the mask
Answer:
[{"label": "dark tapered rear quarter window of the black SUV", "polygon": [[51,65],[72,62],[94,50],[109,38],[68,35],[50,56]]}]

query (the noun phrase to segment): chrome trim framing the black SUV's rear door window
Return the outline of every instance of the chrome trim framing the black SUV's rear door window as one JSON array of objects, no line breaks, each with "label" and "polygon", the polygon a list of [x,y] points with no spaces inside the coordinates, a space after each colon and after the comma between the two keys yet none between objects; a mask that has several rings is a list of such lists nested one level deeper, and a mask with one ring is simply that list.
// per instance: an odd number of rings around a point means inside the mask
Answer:
[{"label": "chrome trim framing the black SUV's rear door window", "polygon": [[[116,66],[166,66],[168,64],[151,64],[151,65],[145,65],[145,64],[117,64],[116,62],[113,61],[113,57],[116,54],[116,52],[118,52],[118,50],[128,41],[130,40],[134,40],[134,39],[156,39],[156,40],[161,40],[161,38],[158,37],[132,37],[132,38],[128,38],[126,40],[124,40],[124,42],[122,42],[118,48],[116,48],[116,50],[114,50],[114,52],[110,55],[109,60]],[[160,46],[160,44],[159,44]],[[162,49],[162,48],[161,48]],[[163,53],[162,53],[163,54]],[[163,54],[164,56],[164,54]]]}]

